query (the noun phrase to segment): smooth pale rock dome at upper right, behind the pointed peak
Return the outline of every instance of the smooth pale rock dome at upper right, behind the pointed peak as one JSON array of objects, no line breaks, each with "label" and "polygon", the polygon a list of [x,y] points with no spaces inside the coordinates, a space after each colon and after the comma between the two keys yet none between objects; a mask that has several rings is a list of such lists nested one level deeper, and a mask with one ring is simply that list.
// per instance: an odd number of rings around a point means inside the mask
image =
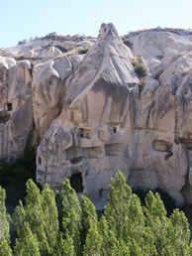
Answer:
[{"label": "smooth pale rock dome at upper right, behind the pointed peak", "polygon": [[135,56],[142,56],[146,70],[153,77],[158,76],[169,64],[183,53],[192,50],[190,36],[169,32],[146,31],[129,37]]}]

